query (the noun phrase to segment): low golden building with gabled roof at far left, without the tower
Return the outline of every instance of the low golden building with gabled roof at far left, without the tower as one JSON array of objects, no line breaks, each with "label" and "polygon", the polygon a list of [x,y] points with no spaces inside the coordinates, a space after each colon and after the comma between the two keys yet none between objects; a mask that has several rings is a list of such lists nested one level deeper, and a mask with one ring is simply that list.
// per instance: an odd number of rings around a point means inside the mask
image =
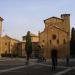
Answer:
[{"label": "low golden building with gabled roof at far left, without the tower", "polygon": [[0,56],[2,54],[11,54],[16,55],[17,54],[17,43],[19,41],[16,39],[13,39],[9,37],[8,35],[5,35],[1,37],[0,39]]}]

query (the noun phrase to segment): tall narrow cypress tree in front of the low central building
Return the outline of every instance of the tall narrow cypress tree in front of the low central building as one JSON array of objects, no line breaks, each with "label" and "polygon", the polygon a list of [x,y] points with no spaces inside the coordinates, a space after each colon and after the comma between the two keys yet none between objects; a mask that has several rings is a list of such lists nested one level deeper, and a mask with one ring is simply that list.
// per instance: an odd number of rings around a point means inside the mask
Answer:
[{"label": "tall narrow cypress tree in front of the low central building", "polygon": [[27,55],[27,62],[26,64],[29,63],[29,58],[31,57],[32,54],[32,41],[31,41],[31,35],[30,35],[30,31],[27,32],[26,35],[26,55]]}]

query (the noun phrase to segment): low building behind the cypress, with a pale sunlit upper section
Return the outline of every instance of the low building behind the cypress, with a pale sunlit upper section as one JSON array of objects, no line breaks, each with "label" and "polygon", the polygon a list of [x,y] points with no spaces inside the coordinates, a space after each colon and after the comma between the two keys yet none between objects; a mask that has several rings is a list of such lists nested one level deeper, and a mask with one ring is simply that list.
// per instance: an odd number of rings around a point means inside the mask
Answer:
[{"label": "low building behind the cypress, with a pale sunlit upper section", "polygon": [[[32,56],[37,56],[38,55],[37,46],[39,45],[39,37],[32,33],[30,33],[30,35],[31,35],[31,41],[32,41],[32,46],[33,46]],[[22,56],[22,57],[26,56],[25,44],[26,44],[26,36],[23,36],[22,41],[18,43],[19,56]]]}]

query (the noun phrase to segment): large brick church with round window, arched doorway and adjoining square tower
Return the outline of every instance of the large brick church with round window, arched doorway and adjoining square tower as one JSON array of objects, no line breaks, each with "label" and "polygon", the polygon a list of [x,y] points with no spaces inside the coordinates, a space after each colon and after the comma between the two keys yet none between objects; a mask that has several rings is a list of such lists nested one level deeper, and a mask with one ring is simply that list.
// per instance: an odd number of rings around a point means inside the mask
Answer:
[{"label": "large brick church with round window, arched doorway and adjoining square tower", "polygon": [[61,17],[50,17],[44,20],[44,31],[39,33],[42,56],[51,57],[51,50],[55,48],[58,57],[70,56],[70,14],[61,14]]}]

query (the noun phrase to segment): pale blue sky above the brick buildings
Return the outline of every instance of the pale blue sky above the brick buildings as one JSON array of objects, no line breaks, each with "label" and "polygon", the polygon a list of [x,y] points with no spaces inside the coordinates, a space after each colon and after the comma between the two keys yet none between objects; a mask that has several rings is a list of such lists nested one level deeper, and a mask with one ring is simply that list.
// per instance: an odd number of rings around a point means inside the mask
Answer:
[{"label": "pale blue sky above the brick buildings", "polygon": [[45,19],[61,14],[70,14],[71,28],[75,27],[75,0],[0,0],[3,34],[18,40],[27,31],[37,35]]}]

